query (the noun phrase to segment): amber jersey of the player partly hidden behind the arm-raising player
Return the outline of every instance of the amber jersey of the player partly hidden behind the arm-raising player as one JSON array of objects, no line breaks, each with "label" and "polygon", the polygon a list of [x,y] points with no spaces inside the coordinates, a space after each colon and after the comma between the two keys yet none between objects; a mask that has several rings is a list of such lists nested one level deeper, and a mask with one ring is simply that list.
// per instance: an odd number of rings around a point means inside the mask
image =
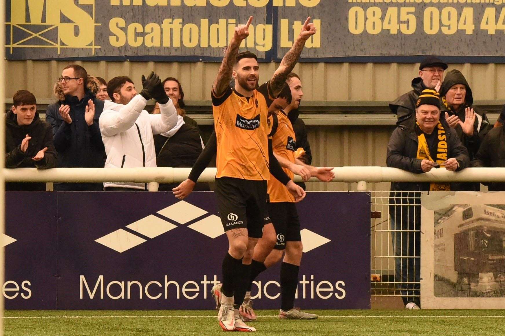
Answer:
[{"label": "amber jersey of the player partly hidden behind the arm-raising player", "polygon": [[[269,118],[271,125],[275,124],[273,119],[275,119],[275,117]],[[272,127],[272,133],[270,135],[272,138],[273,151],[275,154],[294,163],[296,139],[294,136],[293,126],[284,111],[279,111],[277,114],[276,126],[277,127]],[[294,174],[289,169],[282,169],[289,178],[293,179]],[[294,202],[294,196],[291,195],[286,186],[279,182],[276,178],[271,178],[268,181],[268,195],[270,196],[271,203]]]}]

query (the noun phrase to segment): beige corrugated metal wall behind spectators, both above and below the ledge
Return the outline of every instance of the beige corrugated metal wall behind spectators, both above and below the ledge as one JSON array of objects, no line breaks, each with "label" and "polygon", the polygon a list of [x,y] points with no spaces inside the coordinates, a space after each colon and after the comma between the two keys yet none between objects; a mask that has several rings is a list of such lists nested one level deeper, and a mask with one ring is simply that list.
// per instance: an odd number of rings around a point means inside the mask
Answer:
[{"label": "beige corrugated metal wall behind spectators, both above and below the ledge", "polygon": [[[25,88],[39,99],[51,99],[52,84],[61,70],[71,62],[8,61],[6,95]],[[155,70],[161,77],[180,79],[185,100],[208,101],[219,63],[155,62],[77,62],[89,74],[110,79],[130,76],[140,86],[140,76]],[[303,80],[307,101],[391,101],[410,89],[419,64],[399,63],[300,63],[297,72]],[[261,64],[261,81],[275,71],[276,64]],[[457,64],[472,86],[475,100],[505,101],[505,64]],[[210,105],[210,102],[209,102]],[[385,153],[392,126],[308,126],[314,165],[318,166],[385,166]],[[388,189],[388,183],[371,185]],[[348,190],[347,183],[311,183],[311,190]]]}]

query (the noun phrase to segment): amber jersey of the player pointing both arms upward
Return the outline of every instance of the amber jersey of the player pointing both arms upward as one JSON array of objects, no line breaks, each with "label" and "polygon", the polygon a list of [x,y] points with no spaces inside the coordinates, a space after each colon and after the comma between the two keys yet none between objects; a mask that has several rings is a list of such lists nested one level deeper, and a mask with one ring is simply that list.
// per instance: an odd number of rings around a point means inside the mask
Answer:
[{"label": "amber jersey of the player pointing both arms upward", "polygon": [[218,98],[212,92],[217,137],[216,177],[270,179],[268,161],[268,82],[244,97],[228,88]]}]

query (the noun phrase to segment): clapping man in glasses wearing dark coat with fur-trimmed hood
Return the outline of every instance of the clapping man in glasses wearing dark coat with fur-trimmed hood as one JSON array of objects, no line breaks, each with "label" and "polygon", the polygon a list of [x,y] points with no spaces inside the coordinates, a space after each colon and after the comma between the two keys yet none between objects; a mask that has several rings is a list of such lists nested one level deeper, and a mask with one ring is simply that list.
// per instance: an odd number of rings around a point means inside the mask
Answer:
[{"label": "clapping man in glasses wearing dark coat with fur-trimmed hood", "polygon": [[[58,167],[103,168],[105,148],[98,128],[104,102],[96,98],[96,81],[80,65],[69,65],[55,84],[58,102],[47,107],[53,127]],[[55,183],[55,190],[98,191],[102,183]]]}]

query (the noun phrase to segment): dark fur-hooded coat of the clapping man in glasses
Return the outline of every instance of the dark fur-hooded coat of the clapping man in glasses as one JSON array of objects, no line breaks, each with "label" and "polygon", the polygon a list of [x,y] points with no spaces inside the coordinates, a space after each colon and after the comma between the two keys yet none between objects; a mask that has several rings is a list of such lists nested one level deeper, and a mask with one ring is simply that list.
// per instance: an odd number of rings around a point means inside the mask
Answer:
[{"label": "dark fur-hooded coat of the clapping man in glasses", "polygon": [[[95,115],[93,124],[88,126],[84,120],[84,112],[90,99],[95,104]],[[71,124],[63,121],[58,112],[60,106],[65,104],[70,106]],[[47,107],[45,119],[53,127],[59,167],[104,167],[105,147],[98,128],[98,118],[103,110],[104,102],[97,99],[89,90],[81,101],[78,101],[77,97],[67,95],[65,101]]]}]

